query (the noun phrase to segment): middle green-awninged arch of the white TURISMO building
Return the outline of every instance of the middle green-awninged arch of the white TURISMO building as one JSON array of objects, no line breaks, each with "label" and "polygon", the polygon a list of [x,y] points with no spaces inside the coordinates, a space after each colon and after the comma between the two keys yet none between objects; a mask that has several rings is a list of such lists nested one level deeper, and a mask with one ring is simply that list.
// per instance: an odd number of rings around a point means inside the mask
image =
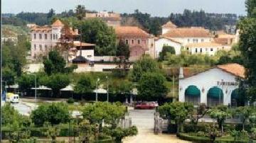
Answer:
[{"label": "middle green-awninged arch of the white TURISMO building", "polygon": [[223,104],[223,90],[214,86],[207,93],[207,105],[216,106]]}]

